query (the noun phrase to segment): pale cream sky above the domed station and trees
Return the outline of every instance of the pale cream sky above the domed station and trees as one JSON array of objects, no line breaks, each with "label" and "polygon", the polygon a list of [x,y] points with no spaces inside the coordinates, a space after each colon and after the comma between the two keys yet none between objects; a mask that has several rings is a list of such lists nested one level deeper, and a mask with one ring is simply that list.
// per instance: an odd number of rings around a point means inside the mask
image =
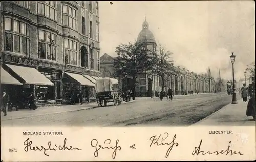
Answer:
[{"label": "pale cream sky above the domed station and trees", "polygon": [[[99,2],[101,55],[116,57],[121,43],[135,42],[149,23],[156,42],[172,51],[174,65],[217,78],[244,78],[255,64],[254,1],[108,1]],[[249,76],[249,74],[248,74]]]}]

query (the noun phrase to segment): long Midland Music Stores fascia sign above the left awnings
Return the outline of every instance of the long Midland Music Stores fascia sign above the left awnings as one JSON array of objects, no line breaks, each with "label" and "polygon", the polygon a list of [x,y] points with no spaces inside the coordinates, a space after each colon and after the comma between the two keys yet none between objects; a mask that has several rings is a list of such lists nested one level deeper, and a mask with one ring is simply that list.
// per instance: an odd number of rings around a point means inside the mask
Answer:
[{"label": "long Midland Music Stores fascia sign above the left awnings", "polygon": [[5,62],[30,65],[30,66],[35,66],[35,67],[53,68],[53,69],[58,69],[58,70],[64,69],[64,67],[59,64],[42,62],[39,60],[25,58],[25,57],[12,56],[12,55],[8,55],[6,53],[2,53],[2,57],[3,57],[3,61],[5,61]]}]

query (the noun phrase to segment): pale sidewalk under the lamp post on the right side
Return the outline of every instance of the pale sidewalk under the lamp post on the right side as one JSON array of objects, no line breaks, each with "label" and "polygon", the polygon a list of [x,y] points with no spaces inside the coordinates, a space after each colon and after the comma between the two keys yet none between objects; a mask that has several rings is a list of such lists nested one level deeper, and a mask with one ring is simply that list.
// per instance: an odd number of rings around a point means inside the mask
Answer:
[{"label": "pale sidewalk under the lamp post on the right side", "polygon": [[255,126],[256,122],[253,117],[246,116],[247,103],[248,101],[243,102],[239,99],[238,104],[230,103],[191,126]]}]

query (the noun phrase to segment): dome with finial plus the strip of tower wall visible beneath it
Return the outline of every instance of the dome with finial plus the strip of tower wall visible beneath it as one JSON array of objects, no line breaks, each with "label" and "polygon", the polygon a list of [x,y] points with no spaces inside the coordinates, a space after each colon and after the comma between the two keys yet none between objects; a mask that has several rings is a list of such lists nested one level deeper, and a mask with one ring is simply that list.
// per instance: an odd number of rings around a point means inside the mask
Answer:
[{"label": "dome with finial plus the strip of tower wall visible beneath it", "polygon": [[138,35],[137,42],[146,42],[147,49],[156,51],[156,40],[149,27],[150,25],[145,19],[142,23],[142,30]]}]

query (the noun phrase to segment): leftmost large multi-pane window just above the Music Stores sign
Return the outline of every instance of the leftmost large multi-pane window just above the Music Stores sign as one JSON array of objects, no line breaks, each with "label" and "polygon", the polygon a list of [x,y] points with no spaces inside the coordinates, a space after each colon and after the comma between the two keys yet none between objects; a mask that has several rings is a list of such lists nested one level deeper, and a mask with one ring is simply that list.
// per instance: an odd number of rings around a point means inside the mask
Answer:
[{"label": "leftmost large multi-pane window just above the Music Stores sign", "polygon": [[5,17],[5,51],[29,53],[29,26],[26,23]]}]

